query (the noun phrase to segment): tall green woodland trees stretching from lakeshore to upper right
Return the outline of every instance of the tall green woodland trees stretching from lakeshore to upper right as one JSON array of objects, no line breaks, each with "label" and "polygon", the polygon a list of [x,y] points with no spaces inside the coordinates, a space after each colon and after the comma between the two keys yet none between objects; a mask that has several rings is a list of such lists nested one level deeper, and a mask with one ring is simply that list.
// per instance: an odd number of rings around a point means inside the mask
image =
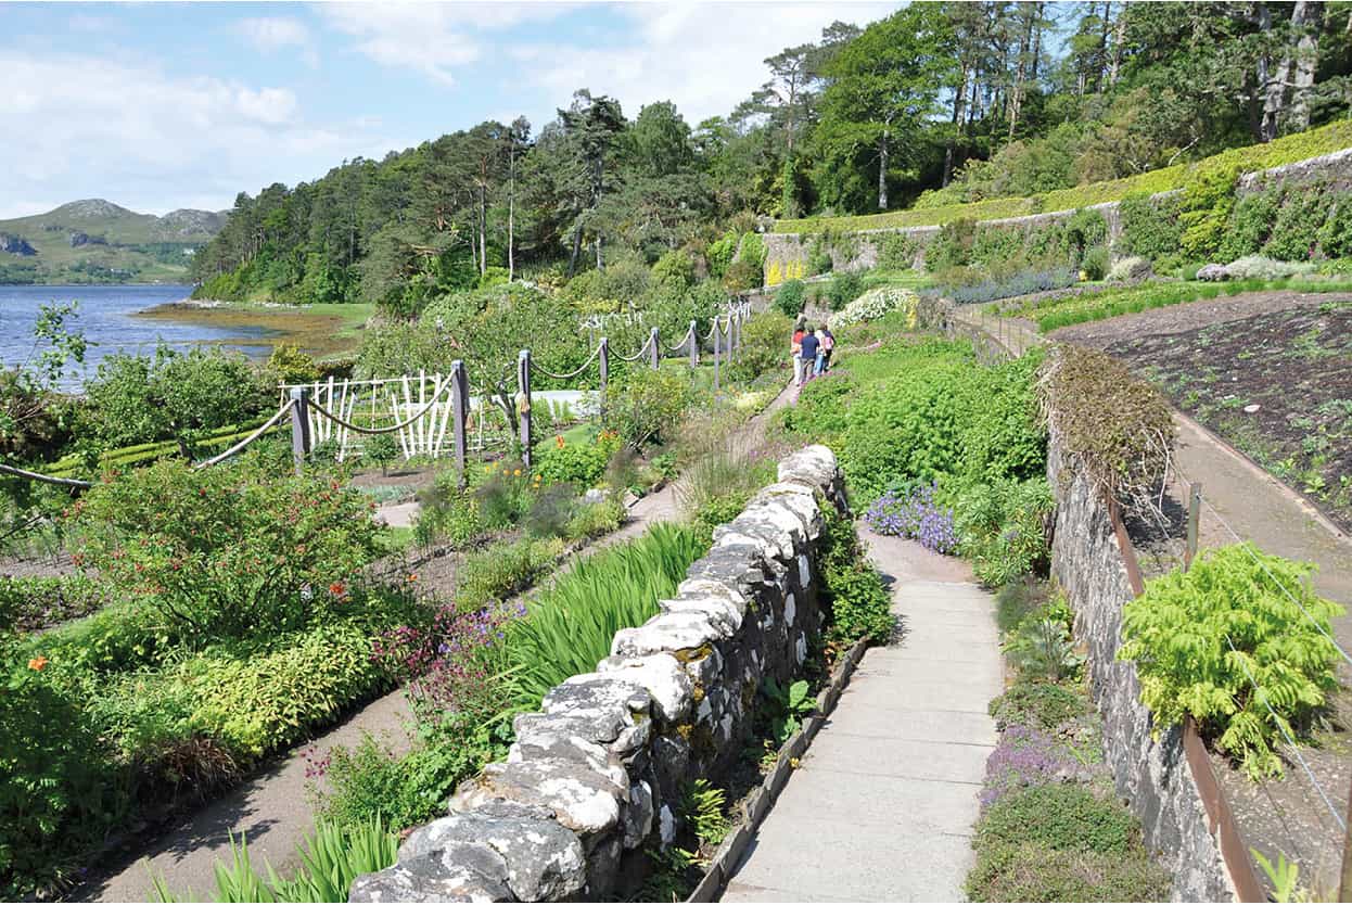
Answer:
[{"label": "tall green woodland trees stretching from lakeshore to upper right", "polygon": [[565,281],[615,256],[696,261],[748,215],[1028,195],[1347,116],[1352,4],[914,3],[765,60],[691,126],[577,91],[534,131],[484,122],[295,188],[241,193],[199,294],[376,302]]}]

